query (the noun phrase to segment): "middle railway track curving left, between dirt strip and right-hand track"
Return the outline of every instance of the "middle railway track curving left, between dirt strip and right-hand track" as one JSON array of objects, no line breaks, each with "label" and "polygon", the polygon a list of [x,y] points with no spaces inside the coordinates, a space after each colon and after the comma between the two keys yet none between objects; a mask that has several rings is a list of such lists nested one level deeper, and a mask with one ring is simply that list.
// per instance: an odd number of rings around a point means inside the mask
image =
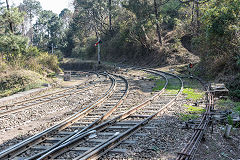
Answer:
[{"label": "middle railway track curving left, between dirt strip and right-hand track", "polygon": [[110,74],[108,76],[112,84],[96,102],[84,107],[58,125],[0,152],[0,159],[37,159],[64,141],[72,139],[79,130],[86,131],[107,118],[128,93],[128,83],[123,77]]}]

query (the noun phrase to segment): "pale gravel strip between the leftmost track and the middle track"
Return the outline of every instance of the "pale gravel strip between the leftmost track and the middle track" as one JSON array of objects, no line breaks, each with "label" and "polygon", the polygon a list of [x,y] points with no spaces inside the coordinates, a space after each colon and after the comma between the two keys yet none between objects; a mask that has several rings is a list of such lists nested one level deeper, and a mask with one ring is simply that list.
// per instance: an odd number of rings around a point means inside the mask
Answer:
[{"label": "pale gravel strip between the leftmost track and the middle track", "polygon": [[[72,82],[73,85],[77,85],[86,80],[88,80],[88,77],[75,77]],[[71,82],[65,82],[62,86],[69,87],[70,83]],[[107,86],[106,89],[109,88],[110,81]],[[57,89],[54,89],[44,94],[56,91]],[[93,86],[78,94],[36,105],[30,109],[11,114],[10,116],[0,117],[0,151],[58,124],[74,112],[80,110],[82,106],[95,101],[96,98],[101,96],[102,92],[104,92],[104,90],[101,88],[101,85],[97,84],[96,87]]]}]

